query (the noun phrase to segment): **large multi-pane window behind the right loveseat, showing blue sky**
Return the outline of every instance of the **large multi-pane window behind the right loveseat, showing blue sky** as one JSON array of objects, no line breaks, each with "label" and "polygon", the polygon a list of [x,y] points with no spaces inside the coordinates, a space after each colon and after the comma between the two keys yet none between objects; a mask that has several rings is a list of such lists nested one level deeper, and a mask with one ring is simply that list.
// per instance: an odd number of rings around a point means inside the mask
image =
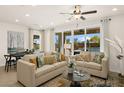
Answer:
[{"label": "large multi-pane window behind the right loveseat, showing blue sky", "polygon": [[[63,37],[62,37],[63,36]],[[62,47],[63,39],[63,47]],[[80,51],[100,51],[100,27],[65,31],[55,34],[55,50],[60,52],[68,49],[74,54]]]}]

